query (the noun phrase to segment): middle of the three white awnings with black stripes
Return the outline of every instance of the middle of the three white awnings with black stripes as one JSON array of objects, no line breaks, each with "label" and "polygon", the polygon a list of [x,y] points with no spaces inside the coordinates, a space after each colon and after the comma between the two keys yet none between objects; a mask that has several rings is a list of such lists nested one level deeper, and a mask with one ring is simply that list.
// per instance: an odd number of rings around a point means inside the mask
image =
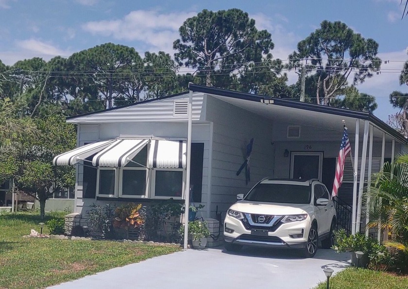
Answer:
[{"label": "middle of the three white awnings with black stripes", "polygon": [[131,161],[150,139],[118,139],[97,153],[92,165],[98,167],[123,167]]}]

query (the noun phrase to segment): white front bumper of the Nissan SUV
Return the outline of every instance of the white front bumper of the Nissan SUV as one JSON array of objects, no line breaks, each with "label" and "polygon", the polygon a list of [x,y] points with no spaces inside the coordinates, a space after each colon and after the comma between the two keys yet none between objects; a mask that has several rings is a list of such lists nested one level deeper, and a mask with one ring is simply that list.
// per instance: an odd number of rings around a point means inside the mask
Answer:
[{"label": "white front bumper of the Nissan SUV", "polygon": [[[280,223],[274,227],[251,227],[245,221],[227,215],[224,220],[224,240],[239,245],[301,249],[306,247],[310,223],[308,217],[304,221]],[[253,235],[251,232],[254,228],[267,229],[268,235]],[[293,235],[301,233],[303,233],[301,238],[293,238]]]}]

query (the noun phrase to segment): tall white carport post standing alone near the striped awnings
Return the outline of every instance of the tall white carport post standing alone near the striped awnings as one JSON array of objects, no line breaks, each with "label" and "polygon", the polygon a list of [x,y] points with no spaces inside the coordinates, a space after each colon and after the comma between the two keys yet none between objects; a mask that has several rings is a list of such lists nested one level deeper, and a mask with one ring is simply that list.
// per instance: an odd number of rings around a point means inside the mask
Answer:
[{"label": "tall white carport post standing alone near the striped awnings", "polygon": [[191,126],[192,126],[192,102],[193,91],[190,90],[188,97],[188,125],[187,125],[187,172],[186,172],[186,190],[185,190],[185,213],[184,213],[184,249],[187,249],[188,242],[188,208],[190,207],[190,161],[191,161]]}]

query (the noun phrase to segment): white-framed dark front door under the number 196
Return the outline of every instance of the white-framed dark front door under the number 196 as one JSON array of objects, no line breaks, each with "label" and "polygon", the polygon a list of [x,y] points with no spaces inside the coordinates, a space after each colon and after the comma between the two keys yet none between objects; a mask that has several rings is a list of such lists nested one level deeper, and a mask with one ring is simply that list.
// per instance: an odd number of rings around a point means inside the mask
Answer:
[{"label": "white-framed dark front door under the number 196", "polygon": [[322,180],[323,152],[291,152],[290,178]]}]

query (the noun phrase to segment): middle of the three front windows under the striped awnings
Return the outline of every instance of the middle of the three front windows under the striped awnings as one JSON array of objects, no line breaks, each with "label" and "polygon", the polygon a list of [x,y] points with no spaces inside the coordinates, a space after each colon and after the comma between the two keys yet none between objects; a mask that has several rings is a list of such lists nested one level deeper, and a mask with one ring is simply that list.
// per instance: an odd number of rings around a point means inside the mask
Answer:
[{"label": "middle of the three front windows under the striped awnings", "polygon": [[120,177],[120,195],[123,196],[145,196],[148,169],[147,145],[123,167]]}]

